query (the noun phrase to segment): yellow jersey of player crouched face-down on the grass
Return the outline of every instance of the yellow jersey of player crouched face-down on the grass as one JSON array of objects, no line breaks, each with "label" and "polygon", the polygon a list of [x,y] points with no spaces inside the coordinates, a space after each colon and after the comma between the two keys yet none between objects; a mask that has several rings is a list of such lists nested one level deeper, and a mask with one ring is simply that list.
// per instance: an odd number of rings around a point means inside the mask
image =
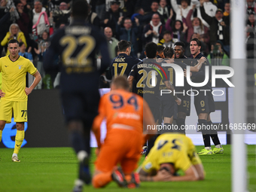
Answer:
[{"label": "yellow jersey of player crouched face-down on the grass", "polygon": [[201,160],[187,136],[164,133],[154,142],[154,147],[142,163],[142,169],[148,173],[157,172],[162,163],[172,163],[175,171],[181,169],[185,172],[191,165],[200,164]]}]

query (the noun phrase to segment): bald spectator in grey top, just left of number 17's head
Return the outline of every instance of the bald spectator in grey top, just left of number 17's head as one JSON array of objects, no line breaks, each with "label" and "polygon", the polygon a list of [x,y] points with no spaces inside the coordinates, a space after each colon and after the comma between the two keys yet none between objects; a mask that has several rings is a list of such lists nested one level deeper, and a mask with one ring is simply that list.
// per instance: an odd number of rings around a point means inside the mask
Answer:
[{"label": "bald spectator in grey top, just left of number 17's head", "polygon": [[116,57],[115,47],[117,47],[118,40],[113,37],[112,29],[110,27],[105,27],[104,35],[108,42],[108,51],[110,59],[114,59],[114,57]]}]

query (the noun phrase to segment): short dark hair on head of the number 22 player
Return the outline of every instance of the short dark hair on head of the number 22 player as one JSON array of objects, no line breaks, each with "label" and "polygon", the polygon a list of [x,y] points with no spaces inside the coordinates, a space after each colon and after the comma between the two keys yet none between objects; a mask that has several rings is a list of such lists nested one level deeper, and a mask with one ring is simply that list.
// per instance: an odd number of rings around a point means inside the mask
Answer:
[{"label": "short dark hair on head of the number 22 player", "polygon": [[72,16],[76,18],[86,19],[89,12],[87,1],[75,0],[72,3]]}]

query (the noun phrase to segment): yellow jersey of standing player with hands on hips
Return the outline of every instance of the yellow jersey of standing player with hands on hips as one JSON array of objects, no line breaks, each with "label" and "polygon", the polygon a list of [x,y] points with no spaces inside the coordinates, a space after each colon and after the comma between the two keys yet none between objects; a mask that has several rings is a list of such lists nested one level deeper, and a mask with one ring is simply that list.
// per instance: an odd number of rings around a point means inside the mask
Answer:
[{"label": "yellow jersey of standing player with hands on hips", "polygon": [[10,101],[26,101],[26,73],[34,75],[37,69],[29,59],[19,56],[12,61],[9,56],[0,58],[0,72],[2,72],[2,92],[5,96],[2,99]]}]

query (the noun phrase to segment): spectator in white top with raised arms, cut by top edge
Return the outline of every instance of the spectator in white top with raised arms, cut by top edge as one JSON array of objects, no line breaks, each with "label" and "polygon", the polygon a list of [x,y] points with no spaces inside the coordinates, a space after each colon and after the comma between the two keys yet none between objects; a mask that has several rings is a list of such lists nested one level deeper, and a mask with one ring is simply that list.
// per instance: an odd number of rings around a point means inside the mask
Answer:
[{"label": "spectator in white top with raised arms, cut by top edge", "polygon": [[177,0],[171,0],[172,9],[175,11],[175,20],[182,20],[183,17],[187,17],[188,11],[190,11],[191,6],[188,5],[187,0],[181,0],[181,6],[177,4]]}]

